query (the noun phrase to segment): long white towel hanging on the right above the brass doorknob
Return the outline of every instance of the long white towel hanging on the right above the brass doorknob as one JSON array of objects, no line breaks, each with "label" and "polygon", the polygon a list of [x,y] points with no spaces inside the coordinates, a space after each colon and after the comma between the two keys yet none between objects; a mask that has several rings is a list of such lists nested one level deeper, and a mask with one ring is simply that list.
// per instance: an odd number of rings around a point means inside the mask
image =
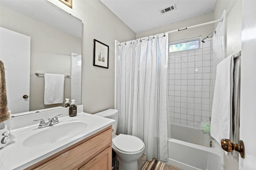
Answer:
[{"label": "long white towel hanging on the right above the brass doorknob", "polygon": [[210,133],[219,144],[223,138],[232,140],[233,71],[233,55],[217,65]]}]

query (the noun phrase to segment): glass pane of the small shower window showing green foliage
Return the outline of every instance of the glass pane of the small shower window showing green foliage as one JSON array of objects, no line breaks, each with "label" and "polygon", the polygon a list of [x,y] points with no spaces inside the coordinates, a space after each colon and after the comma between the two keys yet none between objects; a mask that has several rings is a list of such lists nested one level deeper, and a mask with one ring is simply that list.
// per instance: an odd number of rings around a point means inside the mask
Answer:
[{"label": "glass pane of the small shower window showing green foliage", "polygon": [[199,48],[199,40],[188,41],[184,43],[169,45],[169,53],[174,51],[182,51],[182,50],[198,49],[198,48]]}]

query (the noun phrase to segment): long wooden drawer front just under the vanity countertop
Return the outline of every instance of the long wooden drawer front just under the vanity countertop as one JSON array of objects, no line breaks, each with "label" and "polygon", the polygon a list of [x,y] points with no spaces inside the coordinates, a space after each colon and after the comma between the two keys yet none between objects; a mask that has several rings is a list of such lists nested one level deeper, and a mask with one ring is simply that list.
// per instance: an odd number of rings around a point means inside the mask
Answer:
[{"label": "long wooden drawer front just under the vanity countertop", "polygon": [[52,160],[45,162],[36,169],[55,170],[55,169],[78,169],[90,159],[95,157],[102,150],[112,147],[112,130],[108,129],[103,133],[85,141]]}]

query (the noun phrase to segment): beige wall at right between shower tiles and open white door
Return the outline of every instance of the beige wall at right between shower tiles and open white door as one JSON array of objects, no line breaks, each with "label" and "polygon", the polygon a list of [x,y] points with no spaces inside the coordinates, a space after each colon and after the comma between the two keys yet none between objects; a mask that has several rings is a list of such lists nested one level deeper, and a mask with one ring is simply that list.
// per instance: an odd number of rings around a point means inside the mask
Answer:
[{"label": "beige wall at right between shower tiles and open white door", "polygon": [[[241,50],[242,0],[217,0],[214,8],[214,20],[227,10],[226,56]],[[239,154],[237,154],[239,155]],[[238,156],[225,156],[225,170],[238,170]]]}]

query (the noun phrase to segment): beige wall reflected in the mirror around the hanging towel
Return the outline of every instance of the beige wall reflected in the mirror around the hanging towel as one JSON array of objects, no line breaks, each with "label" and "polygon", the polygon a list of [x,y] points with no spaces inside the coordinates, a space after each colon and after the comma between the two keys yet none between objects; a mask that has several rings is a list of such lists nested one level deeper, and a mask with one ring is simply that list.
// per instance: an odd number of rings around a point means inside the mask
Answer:
[{"label": "beige wall reflected in the mirror around the hanging towel", "polygon": [[[81,53],[82,39],[0,6],[0,26],[31,37],[30,111],[44,105],[44,77],[39,73],[71,74],[71,53]],[[72,43],[70,43],[72,42]],[[64,98],[71,97],[71,79],[65,78]]]}]

